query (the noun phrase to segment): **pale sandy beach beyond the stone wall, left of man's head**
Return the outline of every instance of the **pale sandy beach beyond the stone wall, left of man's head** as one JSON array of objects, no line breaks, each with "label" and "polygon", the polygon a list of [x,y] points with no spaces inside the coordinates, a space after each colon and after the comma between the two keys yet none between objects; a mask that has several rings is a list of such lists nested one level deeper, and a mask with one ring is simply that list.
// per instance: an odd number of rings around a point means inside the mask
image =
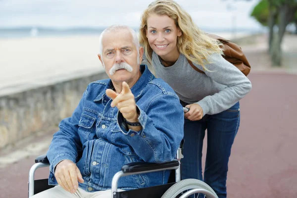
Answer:
[{"label": "pale sandy beach beyond the stone wall, left of man's head", "polygon": [[99,36],[37,37],[0,40],[0,92],[49,84],[103,68]]}]

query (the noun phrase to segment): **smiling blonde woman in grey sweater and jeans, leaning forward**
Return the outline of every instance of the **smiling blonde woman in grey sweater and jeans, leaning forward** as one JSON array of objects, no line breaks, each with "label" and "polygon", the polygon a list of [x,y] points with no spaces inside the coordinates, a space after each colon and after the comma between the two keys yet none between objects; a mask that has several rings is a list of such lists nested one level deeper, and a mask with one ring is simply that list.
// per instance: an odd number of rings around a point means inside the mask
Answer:
[{"label": "smiling blonde woman in grey sweater and jeans, leaning forward", "polygon": [[[182,179],[203,180],[219,198],[226,198],[228,161],[240,124],[239,100],[250,91],[250,81],[222,57],[221,44],[199,30],[173,0],[148,5],[141,18],[140,42],[156,76],[166,81],[189,109],[185,113]],[[190,62],[205,74],[195,71]]]}]

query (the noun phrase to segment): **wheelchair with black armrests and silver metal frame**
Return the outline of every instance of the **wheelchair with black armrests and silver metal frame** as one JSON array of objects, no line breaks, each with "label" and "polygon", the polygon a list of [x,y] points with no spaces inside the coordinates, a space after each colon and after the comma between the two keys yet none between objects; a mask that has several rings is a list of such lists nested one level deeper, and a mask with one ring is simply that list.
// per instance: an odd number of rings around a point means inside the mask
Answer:
[{"label": "wheelchair with black armrests and silver metal frame", "polygon": [[[111,193],[112,198],[187,198],[197,194],[203,194],[204,198],[218,198],[215,192],[206,183],[197,179],[181,180],[181,159],[183,158],[182,145],[177,151],[176,159],[165,163],[132,162],[124,165],[121,171],[112,178]],[[28,197],[45,191],[54,186],[48,185],[48,179],[34,180],[35,171],[41,167],[49,166],[47,156],[40,155],[35,159],[35,164],[29,171]],[[144,174],[149,172],[172,170],[167,184],[141,188],[129,191],[118,191],[117,183],[120,177]]]}]

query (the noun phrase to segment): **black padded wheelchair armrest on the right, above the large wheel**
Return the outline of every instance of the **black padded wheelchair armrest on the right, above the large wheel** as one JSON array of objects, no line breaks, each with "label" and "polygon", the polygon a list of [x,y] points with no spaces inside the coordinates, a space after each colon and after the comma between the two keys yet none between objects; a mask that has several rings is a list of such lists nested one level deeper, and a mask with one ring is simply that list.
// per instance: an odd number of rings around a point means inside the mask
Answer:
[{"label": "black padded wheelchair armrest on the right, above the large wheel", "polygon": [[142,172],[149,170],[157,170],[157,169],[166,169],[179,166],[178,160],[173,160],[165,163],[148,163],[148,162],[132,162],[129,164],[125,164],[122,167],[122,171],[124,173],[134,173],[134,172]]}]

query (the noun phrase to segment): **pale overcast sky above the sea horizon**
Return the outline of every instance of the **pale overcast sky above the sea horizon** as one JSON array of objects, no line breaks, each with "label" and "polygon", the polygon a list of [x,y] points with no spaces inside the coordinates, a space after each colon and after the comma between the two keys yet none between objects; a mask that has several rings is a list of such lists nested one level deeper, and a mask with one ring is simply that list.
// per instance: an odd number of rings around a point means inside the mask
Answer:
[{"label": "pale overcast sky above the sea horizon", "polygon": [[[138,27],[152,0],[0,0],[0,27]],[[259,0],[176,0],[204,28],[260,29],[249,15]],[[231,7],[228,9],[227,7]],[[232,10],[232,11],[231,11]]]}]

